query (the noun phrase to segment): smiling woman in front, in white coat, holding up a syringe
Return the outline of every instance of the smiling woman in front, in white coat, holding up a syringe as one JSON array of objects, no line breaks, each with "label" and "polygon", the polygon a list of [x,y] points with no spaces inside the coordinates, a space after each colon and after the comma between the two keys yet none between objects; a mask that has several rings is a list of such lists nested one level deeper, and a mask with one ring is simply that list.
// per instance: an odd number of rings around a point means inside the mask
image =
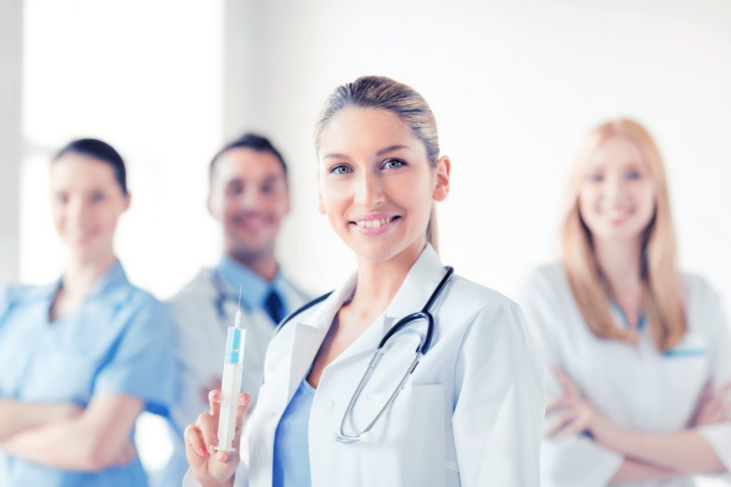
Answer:
[{"label": "smiling woman in front, in white coat, holding up a syringe", "polygon": [[[270,343],[240,466],[238,451],[209,453],[219,408],[219,391],[211,393],[211,412],[185,432],[186,482],[537,486],[543,371],[522,313],[459,276],[434,304],[431,349],[393,404],[361,441],[336,439],[379,341],[420,311],[445,275],[431,243],[450,160],[439,156],[424,99],[388,78],[337,88],[319,116],[316,147],[319,209],[355,252],[357,273]],[[414,322],[390,340],[345,434],[366,429],[398,388],[425,328]]]}]

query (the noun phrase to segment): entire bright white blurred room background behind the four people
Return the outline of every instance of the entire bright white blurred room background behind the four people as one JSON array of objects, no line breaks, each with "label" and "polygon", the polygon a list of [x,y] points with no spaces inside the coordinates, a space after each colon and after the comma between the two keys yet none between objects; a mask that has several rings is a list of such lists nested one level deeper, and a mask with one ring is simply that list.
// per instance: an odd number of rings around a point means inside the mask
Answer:
[{"label": "entire bright white blurred room background behind the four people", "polygon": [[[0,281],[64,269],[48,161],[99,137],[133,195],[118,256],[168,298],[219,258],[211,156],[255,130],[289,163],[284,271],[312,293],[334,287],[355,262],[317,213],[314,119],[338,84],[387,75],[427,99],[452,157],[439,241],[458,273],[512,295],[553,260],[581,137],[630,116],[664,156],[681,268],[731,309],[730,26],[722,0],[0,0]],[[142,421],[156,470],[169,445]]]}]

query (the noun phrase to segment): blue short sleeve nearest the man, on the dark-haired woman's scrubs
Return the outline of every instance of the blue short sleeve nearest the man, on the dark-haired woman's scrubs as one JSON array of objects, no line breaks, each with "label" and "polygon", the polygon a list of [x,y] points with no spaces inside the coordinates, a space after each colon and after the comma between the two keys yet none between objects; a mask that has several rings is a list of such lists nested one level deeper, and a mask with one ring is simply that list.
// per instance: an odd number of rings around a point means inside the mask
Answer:
[{"label": "blue short sleeve nearest the man, on the dark-haired woman's scrubs", "polygon": [[94,393],[134,396],[149,412],[167,416],[177,390],[174,351],[170,310],[151,298],[124,326],[96,375]]}]

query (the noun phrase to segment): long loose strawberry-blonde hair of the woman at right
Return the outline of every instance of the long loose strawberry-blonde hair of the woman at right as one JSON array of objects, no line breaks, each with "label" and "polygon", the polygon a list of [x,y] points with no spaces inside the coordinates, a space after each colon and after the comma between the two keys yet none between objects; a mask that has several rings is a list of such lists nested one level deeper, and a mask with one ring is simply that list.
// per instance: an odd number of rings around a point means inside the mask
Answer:
[{"label": "long loose strawberry-blonde hair of the woman at right", "polygon": [[675,260],[675,232],[670,214],[670,197],[659,150],[648,131],[635,121],[608,121],[589,132],[572,170],[567,206],[561,228],[561,262],[577,306],[596,336],[632,341],[610,312],[609,298],[596,263],[591,232],[579,212],[579,193],[588,175],[594,151],[610,137],[626,137],[637,145],[654,181],[655,211],[643,233],[641,276],[643,306],[652,336],[659,350],[674,347],[688,326],[682,303],[681,280]]}]

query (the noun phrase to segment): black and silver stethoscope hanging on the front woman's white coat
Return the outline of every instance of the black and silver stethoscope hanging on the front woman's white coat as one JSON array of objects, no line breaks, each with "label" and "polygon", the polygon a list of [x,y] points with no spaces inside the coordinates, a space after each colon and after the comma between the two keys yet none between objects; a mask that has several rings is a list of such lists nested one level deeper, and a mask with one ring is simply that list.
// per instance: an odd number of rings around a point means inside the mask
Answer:
[{"label": "black and silver stethoscope hanging on the front woman's white coat", "polygon": [[[452,273],[454,273],[454,269],[451,267],[445,267],[447,270],[447,273],[444,274],[444,277],[442,278],[442,281],[439,282],[439,285],[437,285],[434,292],[431,293],[431,297],[429,298],[429,301],[426,302],[423,309],[420,312],[409,314],[406,317],[401,318],[401,320],[398,320],[395,325],[391,327],[391,329],[383,336],[381,339],[381,342],[378,344],[378,347],[376,348],[376,352],[373,354],[373,358],[371,358],[371,362],[368,363],[368,369],[366,369],[366,373],[363,374],[363,378],[360,379],[360,382],[358,383],[358,387],[355,389],[355,393],[353,393],[352,398],[350,399],[350,402],[348,404],[348,407],[345,409],[345,413],[343,415],[343,420],[340,422],[340,431],[338,431],[335,435],[336,439],[339,442],[344,443],[352,443],[352,442],[370,442],[373,438],[373,435],[371,434],[371,429],[376,424],[376,421],[381,418],[383,413],[390,407],[390,405],[393,403],[394,399],[396,399],[396,396],[398,396],[399,391],[401,391],[401,388],[404,386],[404,383],[409,378],[409,375],[412,374],[414,369],[416,369],[416,366],[419,363],[419,360],[428,352],[429,347],[431,347],[431,339],[434,334],[434,317],[431,314],[431,308],[436,302],[437,299],[439,299],[439,296],[442,295],[442,291],[444,290],[444,287],[447,285],[447,282],[449,282],[450,278],[452,277]],[[406,370],[406,373],[404,374],[404,377],[401,377],[401,382],[398,382],[398,385],[393,390],[393,393],[391,393],[391,396],[388,398],[388,401],[383,405],[381,410],[378,412],[376,417],[371,421],[371,423],[366,426],[366,429],[363,431],[360,431],[359,434],[355,436],[349,436],[345,434],[345,422],[349,415],[352,413],[353,408],[355,407],[355,403],[360,397],[360,393],[363,392],[363,389],[366,388],[366,384],[368,383],[368,380],[373,375],[374,371],[376,370],[376,366],[378,366],[379,361],[385,354],[385,352],[389,348],[389,339],[394,336],[398,331],[401,331],[406,325],[409,325],[412,322],[415,322],[417,320],[425,320],[426,321],[426,336],[421,337],[421,334],[419,334],[419,347],[416,349],[416,356],[414,357],[414,360],[412,360],[411,365],[409,365],[409,369]]]}]

